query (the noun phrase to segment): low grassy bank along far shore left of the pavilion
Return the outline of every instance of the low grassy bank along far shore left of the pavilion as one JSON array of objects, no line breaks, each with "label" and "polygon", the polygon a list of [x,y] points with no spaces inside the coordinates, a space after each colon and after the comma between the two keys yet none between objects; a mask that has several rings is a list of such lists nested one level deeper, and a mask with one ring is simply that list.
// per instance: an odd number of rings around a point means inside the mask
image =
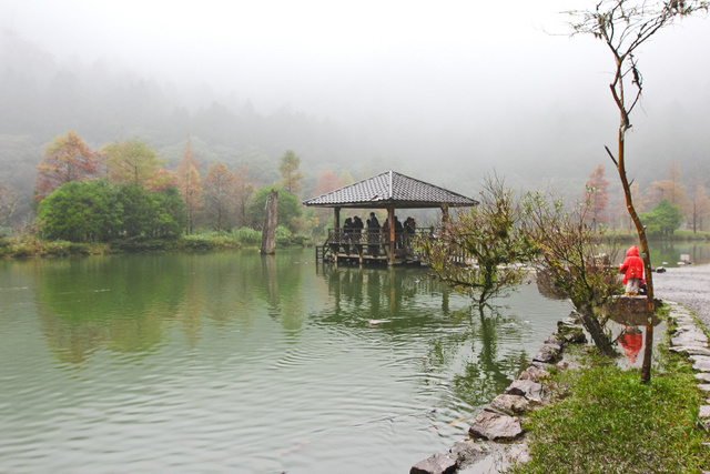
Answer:
[{"label": "low grassy bank along far shore left of the pavilion", "polygon": [[[175,240],[126,239],[110,243],[47,241],[36,235],[21,234],[0,238],[0,258],[104,255],[124,252],[221,251],[257,248],[261,242],[262,233],[247,228],[239,229],[234,232],[193,233]],[[305,238],[294,235],[285,228],[277,228],[276,230],[276,244],[281,248],[304,245],[306,243]]]}]

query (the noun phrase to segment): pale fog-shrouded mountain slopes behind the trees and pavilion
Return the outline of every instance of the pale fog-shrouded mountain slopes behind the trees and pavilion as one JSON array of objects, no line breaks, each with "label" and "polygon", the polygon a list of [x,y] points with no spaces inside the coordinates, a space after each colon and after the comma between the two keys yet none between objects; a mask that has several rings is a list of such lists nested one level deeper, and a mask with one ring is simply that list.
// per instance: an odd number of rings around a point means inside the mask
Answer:
[{"label": "pale fog-shrouded mountain slopes behind the trees and pavilion", "polygon": [[[585,83],[551,102],[504,94],[473,109],[452,91],[440,98],[414,91],[402,110],[375,104],[333,118],[287,103],[258,110],[240,91],[215,92],[206,82],[185,85],[180,78],[160,82],[109,58],[58,60],[8,29],[0,41],[0,180],[26,201],[44,147],[69,130],[93,149],[140,138],[169,159],[169,168],[190,138],[203,172],[217,160],[232,169],[248,164],[257,185],[278,179],[277,161],[291,149],[302,159],[304,196],[323,170],[347,170],[358,180],[392,168],[468,195],[495,171],[513,185],[552,185],[574,196],[598,163],[613,171],[604,144],[613,145],[618,118],[607,91],[590,92]],[[686,110],[661,99],[635,120],[640,132],[629,135],[629,172],[642,188],[663,179],[672,160],[686,175],[710,175],[710,82],[696,85],[702,107]],[[572,100],[585,94],[607,107]],[[437,114],[423,105],[433,100]]]}]

